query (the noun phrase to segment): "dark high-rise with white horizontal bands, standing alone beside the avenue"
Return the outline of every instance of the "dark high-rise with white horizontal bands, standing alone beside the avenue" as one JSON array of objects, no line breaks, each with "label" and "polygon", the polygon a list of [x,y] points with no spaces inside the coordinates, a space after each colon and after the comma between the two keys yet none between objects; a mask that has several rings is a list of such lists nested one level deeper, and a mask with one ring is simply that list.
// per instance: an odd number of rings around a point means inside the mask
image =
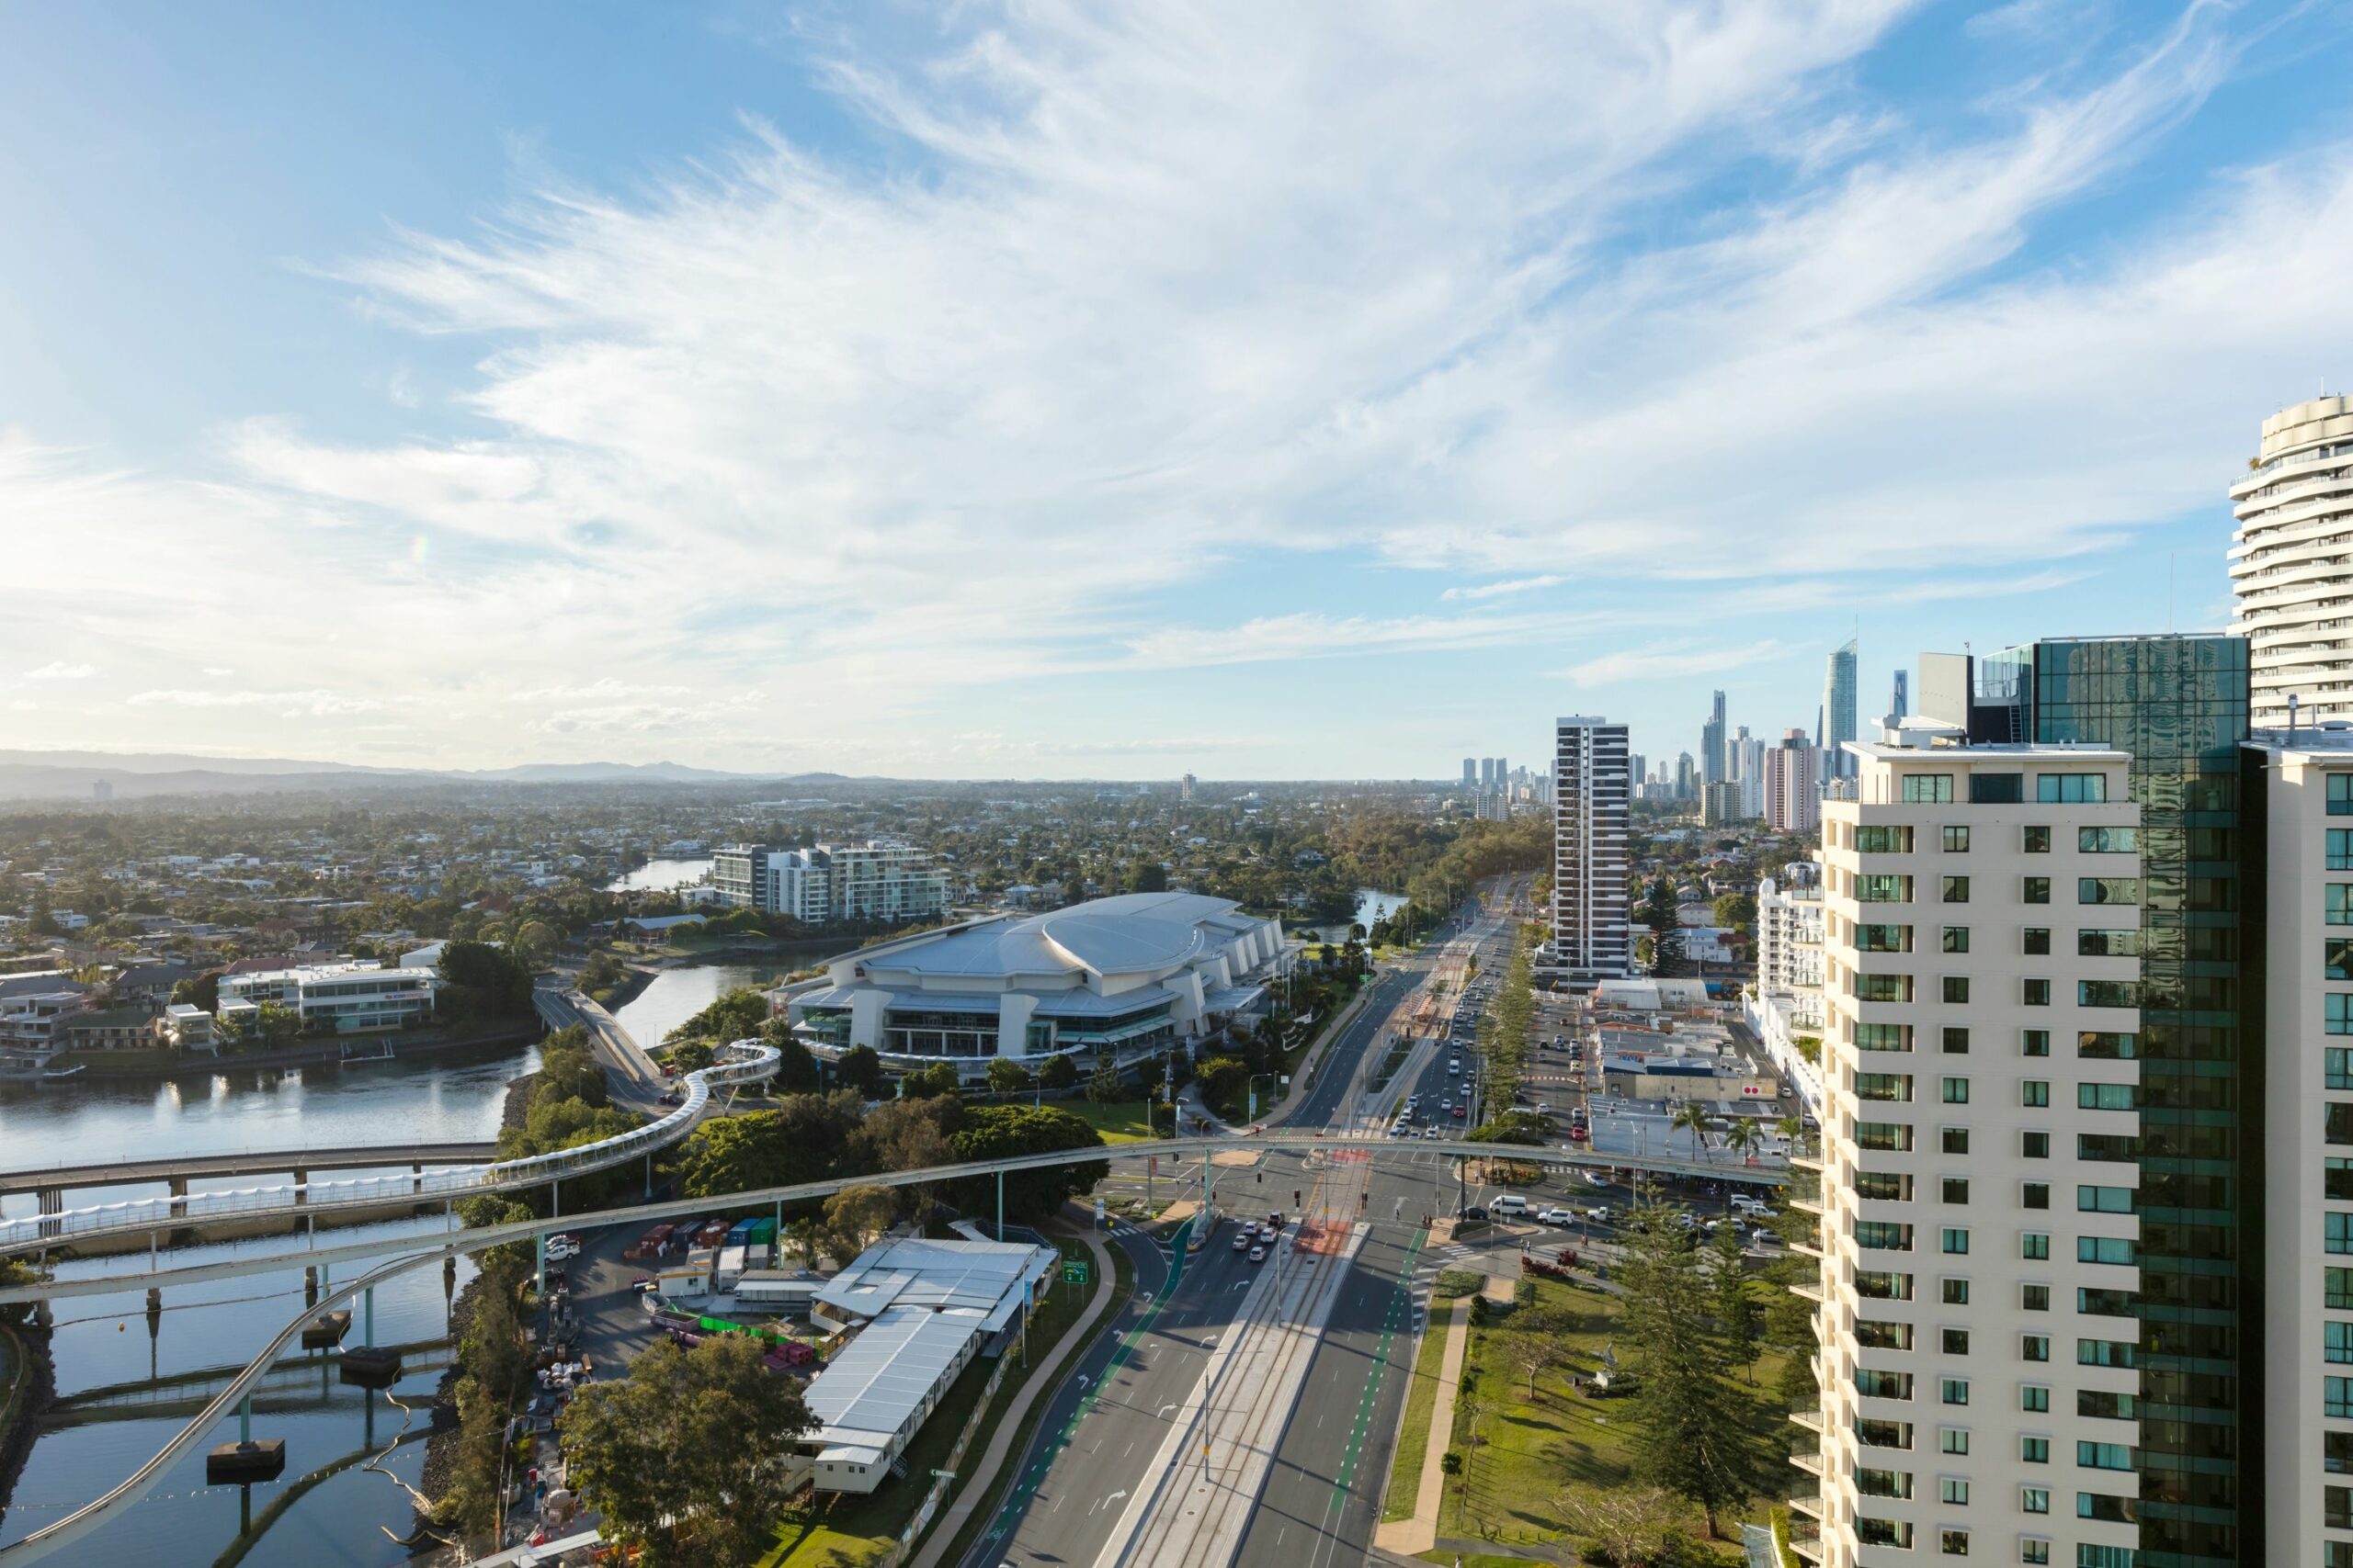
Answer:
[{"label": "dark high-rise with white horizontal bands, standing alone beside the avenue", "polygon": [[1553,729],[1553,940],[1544,969],[1569,985],[1633,973],[1626,726],[1567,717]]}]

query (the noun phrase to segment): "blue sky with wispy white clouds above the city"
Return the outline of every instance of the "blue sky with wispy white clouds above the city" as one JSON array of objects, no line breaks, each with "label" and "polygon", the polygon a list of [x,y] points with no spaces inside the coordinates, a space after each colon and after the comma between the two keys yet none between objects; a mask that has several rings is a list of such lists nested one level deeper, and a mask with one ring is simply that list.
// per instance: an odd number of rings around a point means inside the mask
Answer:
[{"label": "blue sky with wispy white clouds above the city", "polygon": [[1697,748],[2221,625],[2332,5],[0,12],[0,745]]}]

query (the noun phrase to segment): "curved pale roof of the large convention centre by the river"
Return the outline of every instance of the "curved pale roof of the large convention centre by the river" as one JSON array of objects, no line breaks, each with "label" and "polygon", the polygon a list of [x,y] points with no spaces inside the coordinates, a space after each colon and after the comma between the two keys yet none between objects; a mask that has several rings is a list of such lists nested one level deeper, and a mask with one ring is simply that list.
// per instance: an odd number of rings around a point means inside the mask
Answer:
[{"label": "curved pale roof of the large convention centre by the river", "polygon": [[1068,910],[988,922],[864,954],[868,973],[1134,976],[1169,973],[1224,952],[1261,922],[1231,898],[1120,893]]}]

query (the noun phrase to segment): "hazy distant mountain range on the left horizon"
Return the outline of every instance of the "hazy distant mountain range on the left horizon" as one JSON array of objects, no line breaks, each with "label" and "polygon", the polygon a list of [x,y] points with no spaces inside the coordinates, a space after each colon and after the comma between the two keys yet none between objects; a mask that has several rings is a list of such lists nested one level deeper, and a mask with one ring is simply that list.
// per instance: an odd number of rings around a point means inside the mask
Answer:
[{"label": "hazy distant mountain range on the left horizon", "polygon": [[511,769],[372,769],[285,757],[188,757],[181,752],[12,752],[0,750],[0,799],[115,799],[155,795],[294,795],[433,783],[828,783],[840,773],[725,773],[682,762],[525,762]]}]

